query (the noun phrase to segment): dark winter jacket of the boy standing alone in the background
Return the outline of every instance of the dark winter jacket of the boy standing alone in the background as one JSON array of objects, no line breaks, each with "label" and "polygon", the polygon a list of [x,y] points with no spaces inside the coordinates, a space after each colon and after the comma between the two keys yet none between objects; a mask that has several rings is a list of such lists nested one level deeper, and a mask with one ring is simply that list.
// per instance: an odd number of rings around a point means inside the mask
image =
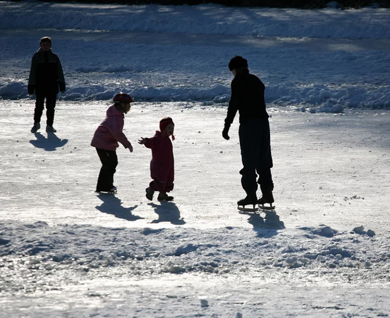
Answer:
[{"label": "dark winter jacket of the boy standing alone in the background", "polygon": [[57,54],[39,49],[32,56],[27,88],[28,94],[36,95],[65,91],[65,79]]}]

